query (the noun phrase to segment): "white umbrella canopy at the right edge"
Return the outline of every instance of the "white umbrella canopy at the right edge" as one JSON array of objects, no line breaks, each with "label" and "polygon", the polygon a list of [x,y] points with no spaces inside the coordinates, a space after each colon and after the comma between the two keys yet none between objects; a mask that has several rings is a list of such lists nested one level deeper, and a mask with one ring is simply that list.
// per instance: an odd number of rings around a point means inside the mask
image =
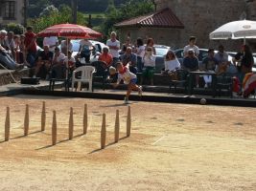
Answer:
[{"label": "white umbrella canopy at the right edge", "polygon": [[256,38],[256,21],[240,20],[222,25],[210,33],[210,39]]}]

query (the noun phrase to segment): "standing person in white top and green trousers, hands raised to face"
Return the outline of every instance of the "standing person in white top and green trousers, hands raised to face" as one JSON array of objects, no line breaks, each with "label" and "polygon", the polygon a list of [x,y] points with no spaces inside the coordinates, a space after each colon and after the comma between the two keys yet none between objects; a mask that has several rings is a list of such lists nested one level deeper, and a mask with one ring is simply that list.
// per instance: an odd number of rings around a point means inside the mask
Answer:
[{"label": "standing person in white top and green trousers, hands raised to face", "polygon": [[144,81],[145,77],[148,77],[151,81],[151,86],[153,85],[153,74],[155,69],[155,59],[156,56],[152,52],[152,48],[148,47],[144,55],[144,68],[142,72],[141,84]]}]

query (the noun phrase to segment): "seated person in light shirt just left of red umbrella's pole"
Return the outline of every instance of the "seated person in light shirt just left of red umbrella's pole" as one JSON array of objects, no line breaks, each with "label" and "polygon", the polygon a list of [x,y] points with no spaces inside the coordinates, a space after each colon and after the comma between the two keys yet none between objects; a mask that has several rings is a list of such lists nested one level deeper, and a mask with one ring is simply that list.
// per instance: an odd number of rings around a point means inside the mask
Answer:
[{"label": "seated person in light shirt just left of red umbrella's pole", "polygon": [[65,78],[66,67],[64,65],[65,54],[60,53],[60,50],[55,48],[55,54],[53,58],[51,77],[52,78]]}]

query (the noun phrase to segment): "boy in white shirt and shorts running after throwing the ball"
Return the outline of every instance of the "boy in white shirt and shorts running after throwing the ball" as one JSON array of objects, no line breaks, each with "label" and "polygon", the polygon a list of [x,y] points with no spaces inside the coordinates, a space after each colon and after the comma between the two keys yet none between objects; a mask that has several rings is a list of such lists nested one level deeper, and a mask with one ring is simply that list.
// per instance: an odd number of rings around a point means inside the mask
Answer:
[{"label": "boy in white shirt and shorts running after throwing the ball", "polygon": [[114,88],[116,88],[120,81],[123,79],[125,84],[128,84],[128,92],[125,96],[125,103],[128,104],[128,96],[130,95],[131,91],[138,91],[139,96],[142,96],[142,87],[136,84],[137,76],[136,74],[130,73],[128,70],[128,65],[124,66],[122,62],[117,62],[116,69],[118,72],[118,79],[117,82],[113,84]]}]

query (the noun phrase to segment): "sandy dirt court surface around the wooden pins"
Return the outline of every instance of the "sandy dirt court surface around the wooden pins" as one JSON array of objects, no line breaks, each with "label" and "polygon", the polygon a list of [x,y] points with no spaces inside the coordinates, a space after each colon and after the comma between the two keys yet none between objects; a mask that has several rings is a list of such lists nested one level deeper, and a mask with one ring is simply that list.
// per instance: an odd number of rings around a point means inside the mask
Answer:
[{"label": "sandy dirt court surface around the wooden pins", "polygon": [[[42,101],[46,131],[40,132]],[[131,137],[123,101],[48,96],[0,97],[0,190],[256,190],[256,129],[253,108],[132,102]],[[82,133],[88,105],[87,135]],[[29,136],[23,137],[25,104]],[[6,107],[11,139],[4,141]],[[68,140],[69,108],[75,138]],[[120,141],[114,140],[120,110]],[[53,110],[58,144],[51,146]],[[102,114],[105,150],[100,150]]]}]

